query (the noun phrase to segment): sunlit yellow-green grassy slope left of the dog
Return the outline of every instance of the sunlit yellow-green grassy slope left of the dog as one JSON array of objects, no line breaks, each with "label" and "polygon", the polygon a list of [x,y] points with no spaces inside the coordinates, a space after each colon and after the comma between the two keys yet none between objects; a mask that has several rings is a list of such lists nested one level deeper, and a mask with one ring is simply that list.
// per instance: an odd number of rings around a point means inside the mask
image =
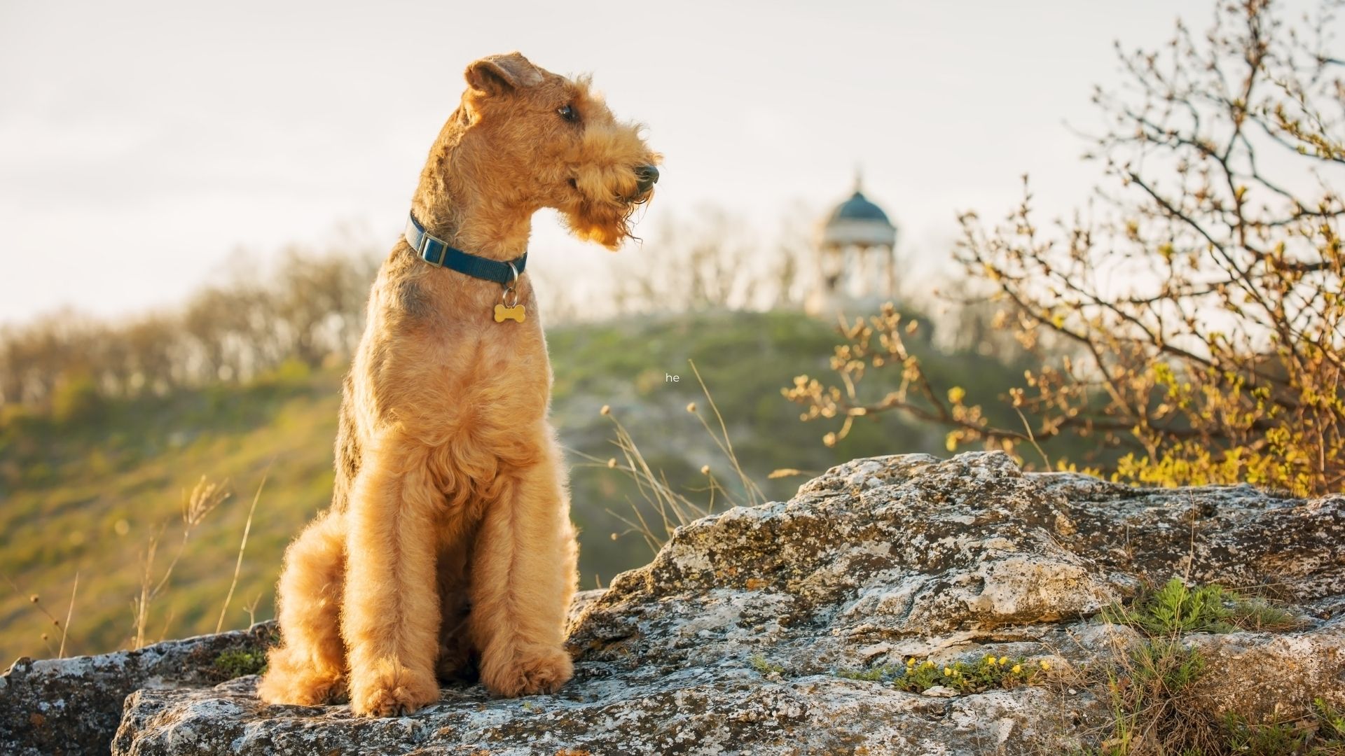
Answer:
[{"label": "sunlit yellow-green grassy slope left of the dog", "polygon": [[[59,655],[62,631],[70,655],[214,630],[246,502],[221,496],[202,514],[199,492],[190,533],[183,503],[203,475],[218,480],[217,495],[231,490],[225,479],[254,488],[276,456],[286,475],[258,504],[262,527],[237,588],[269,616],[285,542],[330,496],[331,440],[315,444],[335,433],[327,394],[338,386],[336,374],[289,374],[112,402],[95,424],[26,417],[0,426],[0,574],[16,587],[0,596],[0,665]],[[51,615],[73,615],[69,630],[38,611],[52,600],[61,609]],[[235,607],[225,626],[246,620]]]}]

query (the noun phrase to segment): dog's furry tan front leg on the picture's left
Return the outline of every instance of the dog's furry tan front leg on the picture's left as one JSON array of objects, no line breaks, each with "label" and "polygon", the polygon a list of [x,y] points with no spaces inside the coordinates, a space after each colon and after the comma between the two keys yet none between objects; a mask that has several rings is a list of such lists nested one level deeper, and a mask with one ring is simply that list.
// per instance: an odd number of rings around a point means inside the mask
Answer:
[{"label": "dog's furry tan front leg on the picture's left", "polygon": [[387,717],[438,701],[438,494],[425,456],[414,441],[378,439],[351,491],[342,635],[356,714]]}]

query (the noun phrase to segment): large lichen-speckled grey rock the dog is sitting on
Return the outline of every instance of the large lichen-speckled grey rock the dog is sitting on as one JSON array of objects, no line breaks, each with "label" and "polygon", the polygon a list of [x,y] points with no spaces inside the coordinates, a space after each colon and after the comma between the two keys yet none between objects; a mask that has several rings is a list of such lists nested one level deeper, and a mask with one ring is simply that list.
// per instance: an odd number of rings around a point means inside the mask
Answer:
[{"label": "large lichen-speckled grey rock the dog is sitting on", "polygon": [[[1186,636],[1206,666],[1193,706],[1252,717],[1295,716],[1313,697],[1345,706],[1345,498],[1139,490],[1024,474],[998,453],[893,456],[679,529],[652,564],[585,596],[570,627],[576,677],[555,695],[461,686],[413,716],[362,720],[347,706],[262,705],[254,677],[147,687],[126,698],[113,752],[1077,748],[1111,717],[1087,670],[1138,642],[1098,612],[1174,574],[1270,591],[1299,616],[1284,632]],[[923,693],[882,671],[986,655],[1037,671],[1009,687]]]}]

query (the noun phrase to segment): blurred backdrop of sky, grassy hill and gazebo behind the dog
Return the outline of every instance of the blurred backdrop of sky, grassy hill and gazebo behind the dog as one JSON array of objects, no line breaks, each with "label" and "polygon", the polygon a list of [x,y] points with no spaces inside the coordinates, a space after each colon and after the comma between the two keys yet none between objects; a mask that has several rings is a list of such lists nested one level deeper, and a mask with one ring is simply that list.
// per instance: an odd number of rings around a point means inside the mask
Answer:
[{"label": "blurred backdrop of sky, grassy hill and gazebo behind the dog", "polygon": [[[640,239],[617,254],[569,238],[550,211],[534,225],[582,588],[648,561],[687,517],[788,498],[855,456],[972,444],[1190,482],[1124,467],[1131,421],[1088,387],[1103,362],[1076,375],[1072,405],[1014,400],[1079,350],[1067,317],[1103,295],[1071,300],[1050,269],[1014,277],[991,258],[1049,254],[1007,238],[1032,227],[1015,215],[1029,172],[1032,211],[1060,221],[1067,260],[1095,213],[1131,252],[1185,238],[1116,210],[1106,187],[1131,186],[1135,164],[1103,153],[1135,133],[1127,112],[1149,113],[1118,102],[1157,91],[1137,51],[1182,52],[1169,44],[1181,19],[1196,47],[1236,62],[1270,12],[1239,5],[0,3],[0,658],[273,616],[284,546],[331,495],[369,284],[464,67],[508,50],[592,73],[666,156]],[[1287,46],[1329,67],[1313,51],[1334,43],[1333,8],[1271,11],[1305,30]],[[1272,108],[1260,114],[1275,125]],[[1286,152],[1263,168],[1293,174],[1301,151]],[[1138,153],[1186,176],[1176,152]],[[1340,160],[1321,163],[1275,187],[1314,198],[1298,207],[1334,198]],[[1184,180],[1163,186],[1198,188]],[[1104,199],[1112,210],[1095,210]],[[1306,221],[1334,223],[1322,213]],[[986,230],[1001,222],[1006,237]],[[1005,278],[1045,300],[1006,300]],[[1131,401],[1147,406],[1162,381]],[[1072,422],[1037,417],[1049,408],[1116,428],[1067,436]],[[1141,425],[1132,436],[1157,464],[1163,445]],[[1338,482],[1328,467],[1309,488]]]}]

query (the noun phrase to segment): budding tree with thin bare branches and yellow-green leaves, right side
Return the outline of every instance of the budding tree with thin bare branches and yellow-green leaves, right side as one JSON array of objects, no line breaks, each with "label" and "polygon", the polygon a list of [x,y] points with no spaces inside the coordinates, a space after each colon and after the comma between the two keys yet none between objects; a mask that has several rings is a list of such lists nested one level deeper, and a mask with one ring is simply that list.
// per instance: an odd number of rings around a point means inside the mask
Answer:
[{"label": "budding tree with thin bare branches and yellow-green leaves, right side", "polygon": [[[1252,483],[1323,492],[1345,482],[1345,83],[1328,34],[1340,3],[1286,23],[1267,0],[1220,1],[1204,36],[1118,55],[1110,129],[1091,159],[1093,213],[1037,227],[1032,195],[1006,223],[960,218],[958,258],[1041,358],[997,428],[958,386],[932,385],[890,308],[845,331],[839,383],[785,395],[807,418],[902,412],[950,426],[948,448],[1010,452],[1072,436],[1131,482]],[[1050,348],[1048,348],[1050,347]],[[881,395],[865,373],[898,371]],[[890,386],[890,383],[889,383]]]}]

